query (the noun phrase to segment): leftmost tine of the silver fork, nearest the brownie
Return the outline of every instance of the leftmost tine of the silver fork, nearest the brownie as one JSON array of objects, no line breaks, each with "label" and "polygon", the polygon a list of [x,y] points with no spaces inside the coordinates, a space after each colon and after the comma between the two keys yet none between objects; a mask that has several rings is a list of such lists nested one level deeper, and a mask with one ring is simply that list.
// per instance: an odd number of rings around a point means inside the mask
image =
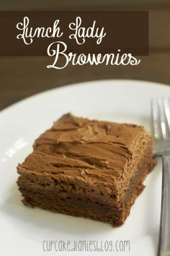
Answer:
[{"label": "leftmost tine of the silver fork, nearest the brownie", "polygon": [[155,139],[160,137],[160,120],[156,98],[151,99],[152,129]]}]

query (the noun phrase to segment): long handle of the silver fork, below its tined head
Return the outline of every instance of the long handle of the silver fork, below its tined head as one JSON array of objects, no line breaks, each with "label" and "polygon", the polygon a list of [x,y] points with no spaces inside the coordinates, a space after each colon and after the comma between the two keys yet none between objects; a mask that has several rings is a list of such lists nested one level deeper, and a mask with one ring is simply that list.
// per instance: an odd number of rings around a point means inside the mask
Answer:
[{"label": "long handle of the silver fork, below its tined head", "polygon": [[170,155],[163,156],[158,256],[170,256]]}]

